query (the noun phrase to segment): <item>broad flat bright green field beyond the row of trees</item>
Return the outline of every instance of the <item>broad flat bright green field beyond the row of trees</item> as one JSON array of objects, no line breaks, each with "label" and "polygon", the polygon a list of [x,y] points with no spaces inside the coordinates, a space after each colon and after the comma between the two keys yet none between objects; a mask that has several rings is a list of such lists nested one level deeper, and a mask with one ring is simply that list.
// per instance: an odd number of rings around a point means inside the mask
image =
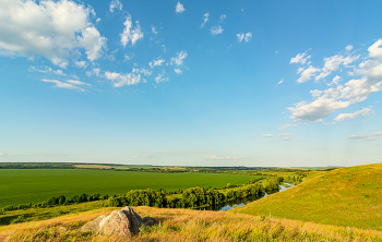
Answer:
[{"label": "broad flat bright green field beyond the row of trees", "polygon": [[39,203],[50,196],[82,193],[122,194],[135,189],[176,191],[192,186],[242,184],[256,176],[226,173],[157,173],[86,169],[0,169],[0,208]]}]

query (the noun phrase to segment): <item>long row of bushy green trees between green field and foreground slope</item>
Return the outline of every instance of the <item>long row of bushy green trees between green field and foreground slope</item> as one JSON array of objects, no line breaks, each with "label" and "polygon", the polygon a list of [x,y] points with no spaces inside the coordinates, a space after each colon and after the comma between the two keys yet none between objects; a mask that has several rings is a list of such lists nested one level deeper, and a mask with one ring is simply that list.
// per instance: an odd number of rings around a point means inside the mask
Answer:
[{"label": "long row of bushy green trees between green field and foreground slope", "polygon": [[[71,205],[79,203],[86,203],[93,201],[108,199],[108,206],[153,206],[153,207],[168,207],[168,208],[203,208],[216,210],[220,209],[225,204],[232,201],[241,199],[258,199],[264,196],[265,192],[274,193],[279,191],[279,184],[283,182],[282,177],[270,177],[267,179],[261,178],[258,180],[250,180],[242,185],[230,185],[223,189],[204,189],[191,187],[187,190],[178,190],[167,193],[160,189],[154,191],[147,190],[131,190],[124,195],[100,195],[100,194],[82,194],[75,195],[71,198],[61,196],[52,196],[49,199],[38,204],[21,204],[19,206],[7,206],[0,209],[0,213],[10,210],[20,210],[28,208],[46,208],[58,205]],[[222,192],[224,191],[224,192]]]}]

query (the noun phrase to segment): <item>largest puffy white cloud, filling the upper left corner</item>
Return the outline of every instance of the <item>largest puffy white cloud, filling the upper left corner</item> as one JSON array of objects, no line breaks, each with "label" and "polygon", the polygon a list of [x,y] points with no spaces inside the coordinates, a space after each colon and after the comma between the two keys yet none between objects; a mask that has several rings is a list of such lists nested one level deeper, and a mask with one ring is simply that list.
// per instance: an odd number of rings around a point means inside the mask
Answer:
[{"label": "largest puffy white cloud, filling the upper left corner", "polygon": [[[89,22],[94,10],[73,1],[3,0],[0,8],[0,53],[43,56],[61,68],[68,57],[86,50],[87,59],[102,56],[106,38]],[[80,52],[81,53],[81,52]]]}]

